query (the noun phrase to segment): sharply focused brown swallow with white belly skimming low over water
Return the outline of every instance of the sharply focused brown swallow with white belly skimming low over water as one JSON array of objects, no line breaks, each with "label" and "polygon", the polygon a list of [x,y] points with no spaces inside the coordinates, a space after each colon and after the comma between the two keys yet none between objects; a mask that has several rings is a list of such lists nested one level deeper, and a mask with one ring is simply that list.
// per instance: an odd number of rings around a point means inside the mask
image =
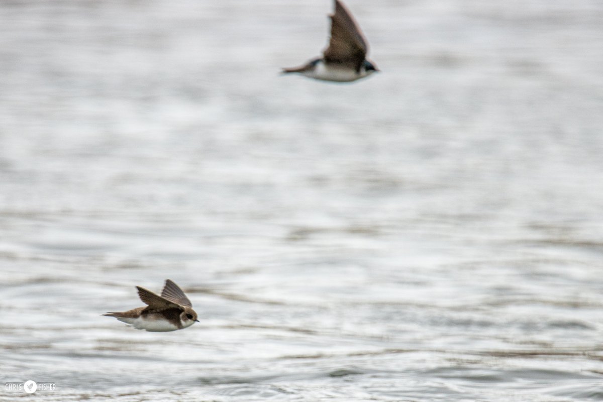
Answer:
[{"label": "sharply focused brown swallow with white belly skimming low over water", "polygon": [[197,313],[192,309],[192,303],[185,292],[177,284],[167,279],[161,296],[148,291],[144,287],[136,286],[140,300],[147,307],[126,312],[109,312],[103,314],[115,317],[121,322],[131,325],[138,330],[150,332],[165,332],[182,330],[190,327],[197,319]]}]

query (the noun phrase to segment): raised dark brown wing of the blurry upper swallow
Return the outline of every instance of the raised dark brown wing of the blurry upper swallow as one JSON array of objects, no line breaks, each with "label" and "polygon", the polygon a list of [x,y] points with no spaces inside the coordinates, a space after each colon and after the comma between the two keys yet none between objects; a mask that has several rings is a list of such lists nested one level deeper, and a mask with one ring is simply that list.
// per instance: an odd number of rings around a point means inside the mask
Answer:
[{"label": "raised dark brown wing of the blurry upper swallow", "polygon": [[331,37],[323,52],[324,59],[327,63],[351,64],[359,70],[368,45],[358,24],[339,0],[335,0],[335,13],[330,18]]}]

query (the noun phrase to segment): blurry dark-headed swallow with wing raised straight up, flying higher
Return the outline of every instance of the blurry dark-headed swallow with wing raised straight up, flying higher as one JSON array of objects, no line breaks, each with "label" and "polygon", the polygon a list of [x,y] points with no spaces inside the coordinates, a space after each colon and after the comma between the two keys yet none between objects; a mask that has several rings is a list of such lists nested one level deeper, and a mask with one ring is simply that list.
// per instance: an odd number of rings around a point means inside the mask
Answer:
[{"label": "blurry dark-headed swallow with wing raised straight up, flying higher", "polygon": [[335,0],[335,12],[329,17],[331,37],[323,57],[314,58],[300,67],[283,68],[283,73],[295,72],[315,80],[348,82],[379,71],[367,60],[367,41],[341,1]]}]

